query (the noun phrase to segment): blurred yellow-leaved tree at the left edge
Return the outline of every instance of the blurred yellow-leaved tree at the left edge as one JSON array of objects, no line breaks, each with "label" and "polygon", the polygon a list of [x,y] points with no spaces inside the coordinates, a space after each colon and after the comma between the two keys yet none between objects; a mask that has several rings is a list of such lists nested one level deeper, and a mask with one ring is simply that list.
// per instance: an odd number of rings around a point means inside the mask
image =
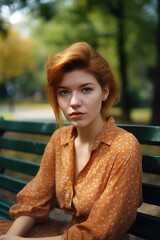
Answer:
[{"label": "blurred yellow-leaved tree at the left edge", "polygon": [[9,29],[7,36],[0,36],[0,82],[16,78],[34,68],[31,39],[23,39],[20,34]]}]

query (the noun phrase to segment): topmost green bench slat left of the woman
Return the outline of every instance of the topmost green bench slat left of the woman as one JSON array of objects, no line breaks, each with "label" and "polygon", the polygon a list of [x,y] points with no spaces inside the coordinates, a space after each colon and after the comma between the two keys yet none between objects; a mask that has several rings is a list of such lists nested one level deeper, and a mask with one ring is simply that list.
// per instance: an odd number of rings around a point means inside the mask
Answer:
[{"label": "topmost green bench slat left of the woman", "polygon": [[11,120],[0,120],[0,131],[12,131],[12,132],[23,132],[23,133],[34,133],[50,135],[56,128],[56,123],[50,122],[25,122],[25,121],[11,121]]}]

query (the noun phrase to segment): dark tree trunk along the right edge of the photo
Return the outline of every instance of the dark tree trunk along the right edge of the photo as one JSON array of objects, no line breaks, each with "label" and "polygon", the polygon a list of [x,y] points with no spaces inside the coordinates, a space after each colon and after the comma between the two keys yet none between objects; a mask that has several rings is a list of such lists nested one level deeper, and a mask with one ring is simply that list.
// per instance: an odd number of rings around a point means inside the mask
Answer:
[{"label": "dark tree trunk along the right edge of the photo", "polygon": [[160,125],[160,0],[157,0],[157,63],[155,71],[154,96],[152,103],[152,125]]}]

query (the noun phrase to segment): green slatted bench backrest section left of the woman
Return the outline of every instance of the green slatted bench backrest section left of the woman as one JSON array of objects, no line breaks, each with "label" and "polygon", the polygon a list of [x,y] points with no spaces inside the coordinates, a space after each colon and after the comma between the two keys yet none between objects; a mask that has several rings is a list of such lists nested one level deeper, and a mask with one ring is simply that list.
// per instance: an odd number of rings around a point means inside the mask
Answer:
[{"label": "green slatted bench backrest section left of the woman", "polygon": [[[12,154],[0,155],[0,188],[17,193],[27,181],[17,179],[13,172],[34,176],[39,168],[38,162],[23,159],[23,153],[42,155],[47,141],[42,136],[50,136],[56,129],[55,123],[19,122],[0,120],[0,149],[13,150]],[[7,136],[6,134],[9,134]],[[14,134],[11,134],[14,133]],[[18,135],[21,133],[22,135]],[[29,135],[28,135],[29,134]],[[37,137],[37,138],[35,138]],[[20,158],[15,158],[15,152],[21,152]],[[4,170],[11,170],[3,174]]]}]

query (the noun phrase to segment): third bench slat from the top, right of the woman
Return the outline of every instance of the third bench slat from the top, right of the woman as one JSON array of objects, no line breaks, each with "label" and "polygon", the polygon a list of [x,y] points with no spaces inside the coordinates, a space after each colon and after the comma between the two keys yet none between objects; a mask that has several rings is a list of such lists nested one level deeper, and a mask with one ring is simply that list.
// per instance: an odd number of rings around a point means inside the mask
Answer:
[{"label": "third bench slat from the top, right of the woman", "polygon": [[143,201],[160,206],[160,186],[143,183]]}]

